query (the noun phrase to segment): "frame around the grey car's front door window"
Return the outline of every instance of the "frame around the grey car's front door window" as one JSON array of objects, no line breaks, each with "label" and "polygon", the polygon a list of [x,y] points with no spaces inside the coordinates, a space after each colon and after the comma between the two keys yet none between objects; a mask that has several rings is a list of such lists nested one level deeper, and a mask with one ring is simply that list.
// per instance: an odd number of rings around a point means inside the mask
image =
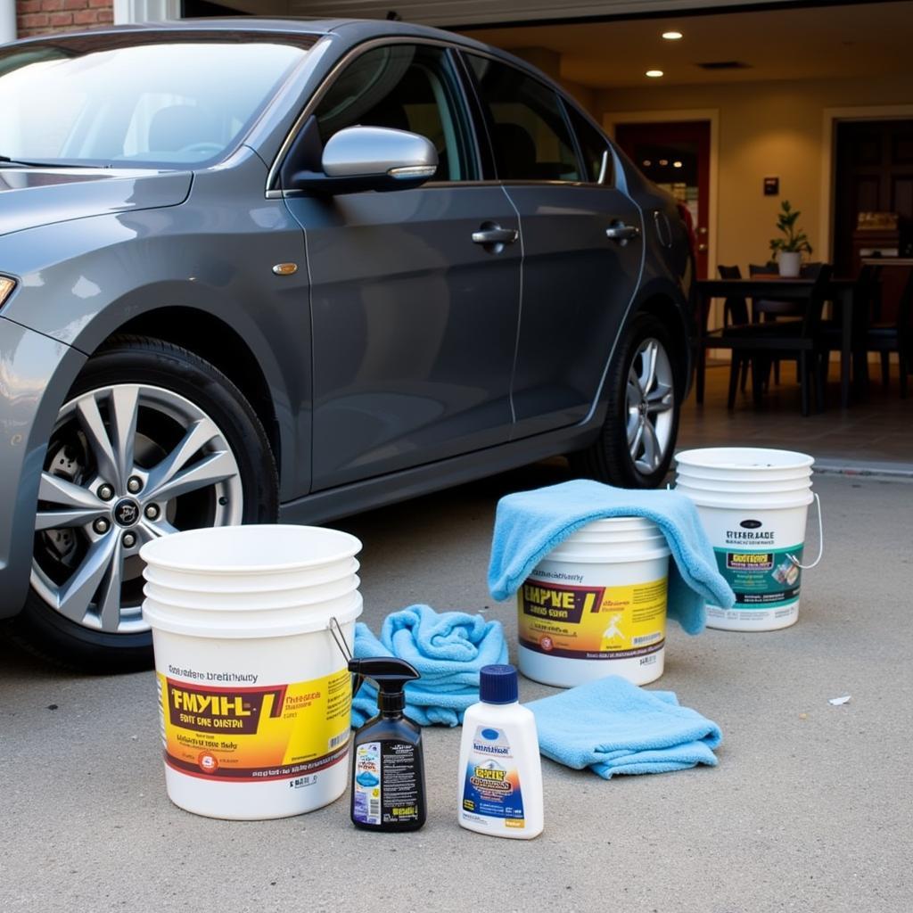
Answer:
[{"label": "frame around the grey car's front door window", "polygon": [[467,168],[469,172],[475,172],[476,177],[467,178],[464,181],[438,181],[431,180],[425,182],[416,190],[422,190],[425,187],[461,187],[467,185],[476,185],[484,183],[484,169],[482,163],[482,147],[478,136],[475,118],[473,116],[472,101],[467,94],[467,83],[463,73],[462,62],[458,57],[458,48],[447,41],[440,41],[436,38],[425,38],[418,36],[383,36],[371,38],[363,41],[355,47],[349,48],[342,57],[333,64],[330,72],[321,80],[320,86],[310,93],[306,104],[300,111],[299,116],[292,124],[291,129],[286,134],[285,139],[279,146],[276,157],[269,167],[267,175],[266,195],[268,198],[281,198],[285,196],[301,196],[306,191],[298,189],[283,189],[281,186],[281,173],[289,153],[292,151],[299,133],[306,127],[310,117],[314,115],[320,107],[320,103],[330,91],[333,84],[339,79],[346,68],[353,61],[362,57],[362,55],[377,49],[378,47],[387,47],[391,45],[414,45],[415,47],[436,47],[444,51],[446,64],[452,69],[454,87],[456,89],[456,104],[461,106],[461,110],[455,112],[467,131]]}]

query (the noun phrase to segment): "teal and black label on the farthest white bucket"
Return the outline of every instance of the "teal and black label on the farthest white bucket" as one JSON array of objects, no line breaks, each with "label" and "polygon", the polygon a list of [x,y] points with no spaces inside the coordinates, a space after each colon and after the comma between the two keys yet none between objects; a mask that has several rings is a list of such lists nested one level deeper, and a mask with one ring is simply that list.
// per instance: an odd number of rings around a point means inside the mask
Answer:
[{"label": "teal and black label on the farthest white bucket", "polygon": [[789,555],[802,561],[803,547],[747,551],[714,549],[719,572],[736,594],[734,610],[772,609],[799,598],[802,571]]}]

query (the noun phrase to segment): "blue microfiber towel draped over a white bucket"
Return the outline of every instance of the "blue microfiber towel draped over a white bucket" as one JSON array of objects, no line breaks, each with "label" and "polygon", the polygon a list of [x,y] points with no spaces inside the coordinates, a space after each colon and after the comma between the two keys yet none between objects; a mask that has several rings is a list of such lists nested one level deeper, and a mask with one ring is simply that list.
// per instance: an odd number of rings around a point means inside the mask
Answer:
[{"label": "blue microfiber towel draped over a white bucket", "polygon": [[520,491],[498,501],[488,567],[492,596],[501,600],[516,593],[556,545],[606,517],[643,517],[663,531],[675,559],[669,565],[666,611],[688,634],[703,631],[706,603],[729,608],[735,602],[689,498],[677,491],[612,488],[588,479]]}]

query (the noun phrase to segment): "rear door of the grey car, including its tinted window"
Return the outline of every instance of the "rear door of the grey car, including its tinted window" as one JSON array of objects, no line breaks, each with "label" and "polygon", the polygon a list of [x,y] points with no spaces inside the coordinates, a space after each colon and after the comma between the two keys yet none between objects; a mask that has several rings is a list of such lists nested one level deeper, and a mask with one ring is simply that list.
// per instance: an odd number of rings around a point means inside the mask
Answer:
[{"label": "rear door of the grey car, including its tinted window", "polygon": [[640,278],[641,215],[614,187],[608,142],[550,86],[494,58],[467,60],[498,180],[520,217],[512,399],[513,436],[523,437],[581,422],[593,408]]}]

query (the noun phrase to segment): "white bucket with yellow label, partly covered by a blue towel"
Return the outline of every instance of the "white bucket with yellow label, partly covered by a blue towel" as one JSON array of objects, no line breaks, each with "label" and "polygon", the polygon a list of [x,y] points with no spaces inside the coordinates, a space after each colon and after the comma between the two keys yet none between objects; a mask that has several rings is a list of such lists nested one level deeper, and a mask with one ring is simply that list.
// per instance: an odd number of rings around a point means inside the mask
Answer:
[{"label": "white bucket with yellow label, partly covered by a blue towel", "polygon": [[617,675],[663,674],[669,550],[655,524],[603,519],[539,562],[517,593],[519,668],[573,687]]}]

